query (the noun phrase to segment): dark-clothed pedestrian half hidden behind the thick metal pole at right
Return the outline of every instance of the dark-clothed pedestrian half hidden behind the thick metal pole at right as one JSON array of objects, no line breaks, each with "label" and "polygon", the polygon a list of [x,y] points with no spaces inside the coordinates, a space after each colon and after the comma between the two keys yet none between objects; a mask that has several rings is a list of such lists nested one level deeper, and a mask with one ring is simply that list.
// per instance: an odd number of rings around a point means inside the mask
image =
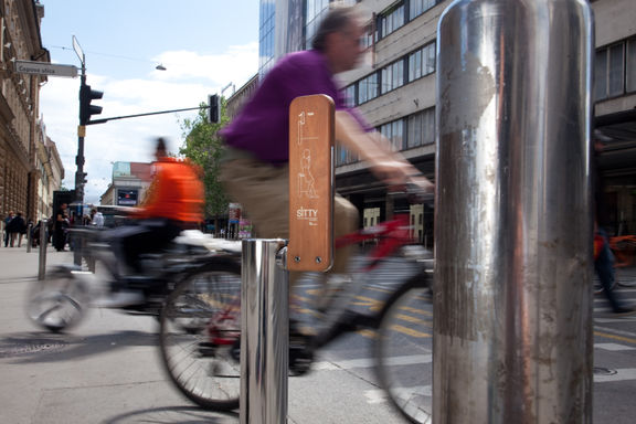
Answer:
[{"label": "dark-clothed pedestrian half hidden behind the thick metal pole at right", "polygon": [[617,290],[614,290],[616,273],[614,268],[614,254],[610,248],[606,227],[610,224],[605,202],[605,181],[598,163],[598,157],[604,148],[607,137],[601,131],[594,132],[594,202],[595,202],[595,221],[594,221],[594,271],[598,276],[603,293],[610,303],[610,307],[616,315],[634,315],[636,309],[626,305]]}]

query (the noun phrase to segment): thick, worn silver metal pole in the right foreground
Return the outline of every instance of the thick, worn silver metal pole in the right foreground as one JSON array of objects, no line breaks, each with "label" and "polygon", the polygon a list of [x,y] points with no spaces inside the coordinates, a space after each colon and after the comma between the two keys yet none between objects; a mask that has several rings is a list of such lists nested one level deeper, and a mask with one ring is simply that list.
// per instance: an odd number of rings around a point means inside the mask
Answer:
[{"label": "thick, worn silver metal pole in the right foreground", "polygon": [[436,423],[592,422],[592,23],[583,0],[439,21]]}]

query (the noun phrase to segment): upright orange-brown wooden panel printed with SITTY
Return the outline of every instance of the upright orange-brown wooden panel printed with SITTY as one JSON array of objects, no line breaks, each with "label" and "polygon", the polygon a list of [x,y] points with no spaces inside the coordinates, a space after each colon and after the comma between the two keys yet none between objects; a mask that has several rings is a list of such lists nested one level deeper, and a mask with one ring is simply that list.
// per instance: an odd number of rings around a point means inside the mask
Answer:
[{"label": "upright orange-brown wooden panel printed with SITTY", "polygon": [[333,100],[289,106],[289,271],[326,272],[333,262]]}]

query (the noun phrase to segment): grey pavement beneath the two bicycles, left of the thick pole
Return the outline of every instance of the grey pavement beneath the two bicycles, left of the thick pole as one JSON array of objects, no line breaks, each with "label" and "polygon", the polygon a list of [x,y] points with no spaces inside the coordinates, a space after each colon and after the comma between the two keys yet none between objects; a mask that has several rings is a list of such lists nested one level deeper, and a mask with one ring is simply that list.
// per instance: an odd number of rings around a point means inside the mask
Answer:
[{"label": "grey pavement beneath the two bicycles, left of the thick pole", "polygon": [[[67,333],[35,327],[24,303],[38,259],[38,250],[0,247],[0,423],[239,423],[237,411],[203,411],[171,385],[151,317],[92,309]],[[72,262],[72,252],[49,248],[49,266]],[[404,423],[372,379],[336,364],[288,383],[290,424]]]}]

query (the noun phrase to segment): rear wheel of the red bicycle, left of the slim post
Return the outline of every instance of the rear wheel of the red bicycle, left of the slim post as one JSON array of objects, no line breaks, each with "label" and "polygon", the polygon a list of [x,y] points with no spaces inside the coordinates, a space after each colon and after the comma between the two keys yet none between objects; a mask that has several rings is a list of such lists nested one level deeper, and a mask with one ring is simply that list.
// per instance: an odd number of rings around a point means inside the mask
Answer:
[{"label": "rear wheel of the red bicycle, left of the slim post", "polygon": [[159,347],[170,380],[215,411],[239,407],[241,265],[212,259],[186,275],[160,316]]}]

